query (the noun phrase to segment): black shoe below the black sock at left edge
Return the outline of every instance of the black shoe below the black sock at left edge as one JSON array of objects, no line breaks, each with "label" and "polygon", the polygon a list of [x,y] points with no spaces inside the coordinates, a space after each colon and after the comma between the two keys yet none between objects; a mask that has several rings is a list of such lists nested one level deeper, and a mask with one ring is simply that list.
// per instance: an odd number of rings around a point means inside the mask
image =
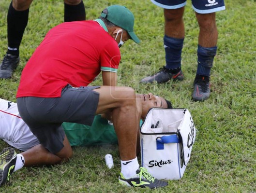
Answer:
[{"label": "black shoe below the black sock at left edge", "polygon": [[6,54],[3,57],[3,61],[0,65],[0,78],[8,79],[11,78],[14,70],[17,68],[19,63],[18,55]]}]

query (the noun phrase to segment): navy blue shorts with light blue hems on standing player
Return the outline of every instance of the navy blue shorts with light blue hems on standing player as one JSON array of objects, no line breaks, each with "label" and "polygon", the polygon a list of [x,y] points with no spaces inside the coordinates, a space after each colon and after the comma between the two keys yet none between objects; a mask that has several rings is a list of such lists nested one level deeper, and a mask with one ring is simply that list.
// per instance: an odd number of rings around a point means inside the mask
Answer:
[{"label": "navy blue shorts with light blue hems on standing player", "polygon": [[[178,9],[186,5],[186,0],[151,0],[164,9]],[[192,6],[198,14],[210,14],[225,10],[224,0],[192,0]]]}]

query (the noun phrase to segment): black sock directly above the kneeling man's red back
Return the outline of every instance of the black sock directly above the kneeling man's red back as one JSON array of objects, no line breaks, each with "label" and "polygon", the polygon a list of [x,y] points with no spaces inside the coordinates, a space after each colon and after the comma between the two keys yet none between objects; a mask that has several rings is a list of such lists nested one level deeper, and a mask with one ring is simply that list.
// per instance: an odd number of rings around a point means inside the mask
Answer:
[{"label": "black sock directly above the kneeling man's red back", "polygon": [[78,5],[68,5],[64,3],[64,22],[84,20],[85,7],[83,0]]}]

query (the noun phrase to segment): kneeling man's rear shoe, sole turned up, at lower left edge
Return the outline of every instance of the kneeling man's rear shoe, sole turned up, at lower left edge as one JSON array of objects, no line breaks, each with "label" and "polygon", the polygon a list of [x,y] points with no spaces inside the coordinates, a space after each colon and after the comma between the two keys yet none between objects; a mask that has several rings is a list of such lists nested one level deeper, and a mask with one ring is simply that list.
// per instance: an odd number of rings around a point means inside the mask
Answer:
[{"label": "kneeling man's rear shoe, sole turned up, at lower left edge", "polygon": [[16,159],[13,148],[4,148],[0,153],[0,186],[9,180],[9,176],[14,172]]}]

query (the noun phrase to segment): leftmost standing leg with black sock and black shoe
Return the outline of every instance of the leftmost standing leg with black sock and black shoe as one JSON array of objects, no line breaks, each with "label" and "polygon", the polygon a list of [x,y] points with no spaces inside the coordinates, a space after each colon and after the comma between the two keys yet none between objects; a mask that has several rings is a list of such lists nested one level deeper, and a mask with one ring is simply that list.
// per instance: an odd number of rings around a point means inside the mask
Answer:
[{"label": "leftmost standing leg with black sock and black shoe", "polygon": [[19,46],[29,20],[32,0],[13,0],[7,14],[8,49],[0,66],[0,78],[11,78],[19,63]]}]

